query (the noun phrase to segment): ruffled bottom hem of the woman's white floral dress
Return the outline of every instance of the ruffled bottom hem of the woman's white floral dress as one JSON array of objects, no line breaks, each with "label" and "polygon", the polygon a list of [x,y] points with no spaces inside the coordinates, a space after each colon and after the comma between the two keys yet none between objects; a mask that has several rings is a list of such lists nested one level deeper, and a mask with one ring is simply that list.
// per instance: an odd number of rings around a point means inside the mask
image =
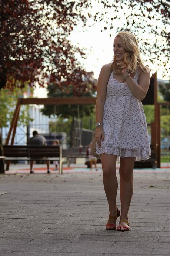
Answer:
[{"label": "ruffled bottom hem of the woman's white floral dress", "polygon": [[150,148],[118,148],[118,147],[108,147],[102,145],[96,150],[96,154],[111,154],[117,155],[117,162],[120,161],[120,157],[136,157],[135,161],[147,160],[150,158],[151,151]]}]

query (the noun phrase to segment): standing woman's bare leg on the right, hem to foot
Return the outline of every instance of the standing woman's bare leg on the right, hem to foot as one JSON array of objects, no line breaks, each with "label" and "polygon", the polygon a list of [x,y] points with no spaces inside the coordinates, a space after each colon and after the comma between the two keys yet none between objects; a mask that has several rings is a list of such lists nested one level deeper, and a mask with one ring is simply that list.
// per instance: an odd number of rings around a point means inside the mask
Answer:
[{"label": "standing woman's bare leg on the right, hem to foot", "polygon": [[[121,201],[121,216],[120,219],[128,220],[128,211],[133,195],[133,167],[135,157],[121,157],[120,158],[120,201]],[[125,222],[120,225],[127,226]],[[120,228],[124,231],[126,229]]]}]

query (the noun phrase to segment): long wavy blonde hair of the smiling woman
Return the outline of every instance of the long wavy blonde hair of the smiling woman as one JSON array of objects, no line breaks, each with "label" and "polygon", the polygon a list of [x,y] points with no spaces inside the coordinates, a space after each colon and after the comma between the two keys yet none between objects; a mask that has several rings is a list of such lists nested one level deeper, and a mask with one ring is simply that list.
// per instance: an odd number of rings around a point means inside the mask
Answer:
[{"label": "long wavy blonde hair of the smiling woman", "polygon": [[136,70],[136,67],[140,67],[143,72],[148,72],[148,68],[144,66],[141,57],[140,57],[140,49],[138,46],[138,42],[136,37],[133,33],[129,31],[120,32],[117,34],[116,37],[121,39],[123,44],[125,54],[124,54],[124,61],[116,61],[116,56],[113,56],[113,60],[111,62],[111,68],[113,69],[114,73],[118,73],[120,68],[125,68],[133,73]]}]

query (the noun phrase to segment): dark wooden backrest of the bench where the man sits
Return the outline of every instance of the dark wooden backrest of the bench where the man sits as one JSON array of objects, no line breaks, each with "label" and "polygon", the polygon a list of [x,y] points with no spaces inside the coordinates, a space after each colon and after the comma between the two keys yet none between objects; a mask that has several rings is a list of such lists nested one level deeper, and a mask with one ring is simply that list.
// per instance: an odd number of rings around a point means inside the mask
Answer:
[{"label": "dark wooden backrest of the bench where the man sits", "polygon": [[4,145],[5,157],[62,157],[61,145],[36,146],[36,145]]}]

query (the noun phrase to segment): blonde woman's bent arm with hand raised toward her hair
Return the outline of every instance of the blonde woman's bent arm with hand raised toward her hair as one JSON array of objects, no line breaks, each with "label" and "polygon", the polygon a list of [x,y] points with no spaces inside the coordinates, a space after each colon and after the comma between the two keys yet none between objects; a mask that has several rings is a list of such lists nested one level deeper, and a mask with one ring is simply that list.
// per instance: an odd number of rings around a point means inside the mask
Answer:
[{"label": "blonde woman's bent arm with hand raised toward her hair", "polygon": [[[126,77],[127,72],[124,72],[127,69],[123,69],[122,73],[123,76]],[[142,101],[149,88],[149,83],[150,83],[150,71],[148,69],[148,72],[143,72],[141,70],[141,73],[139,75],[139,81],[138,84],[130,77],[128,76],[126,79],[126,83],[129,86],[130,91],[133,93],[133,95],[139,99],[139,101]]]}]

